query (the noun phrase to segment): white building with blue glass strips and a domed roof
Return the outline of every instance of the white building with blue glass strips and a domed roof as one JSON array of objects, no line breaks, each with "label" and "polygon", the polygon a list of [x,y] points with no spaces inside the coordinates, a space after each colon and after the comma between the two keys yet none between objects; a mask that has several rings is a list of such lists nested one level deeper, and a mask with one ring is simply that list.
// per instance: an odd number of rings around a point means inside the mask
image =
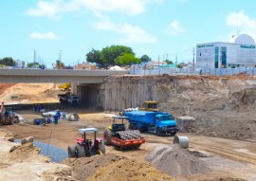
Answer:
[{"label": "white building with blue glass strips and a domed roof", "polygon": [[234,36],[229,43],[196,45],[197,68],[228,68],[256,65],[256,45],[247,34]]}]

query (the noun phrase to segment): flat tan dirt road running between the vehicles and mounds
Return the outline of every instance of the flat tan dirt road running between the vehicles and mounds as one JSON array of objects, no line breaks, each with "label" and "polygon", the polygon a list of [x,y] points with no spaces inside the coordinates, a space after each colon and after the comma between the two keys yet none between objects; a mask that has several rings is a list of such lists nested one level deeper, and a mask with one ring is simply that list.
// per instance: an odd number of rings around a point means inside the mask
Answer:
[{"label": "flat tan dirt road running between the vehicles and mounds", "polygon": [[[2,126],[14,134],[16,139],[26,136],[33,136],[35,141],[49,143],[64,150],[70,145],[75,145],[76,138],[81,135],[78,129],[85,126],[94,126],[100,130],[98,134],[102,137],[104,129],[112,122],[111,114],[93,112],[83,108],[74,108],[64,105],[48,104],[48,108],[58,107],[60,110],[75,112],[80,115],[79,121],[67,121],[61,119],[58,125],[50,124],[48,127],[43,125],[33,125],[34,118],[41,118],[40,113],[32,111],[32,107],[19,111],[26,121],[20,124]],[[46,107],[47,108],[47,107]],[[198,136],[194,134],[178,134],[190,138],[190,150],[199,151],[209,156],[202,157],[202,160],[210,165],[214,172],[205,174],[179,175],[177,180],[198,180],[209,179],[218,180],[219,178],[245,178],[256,180],[256,144],[255,142],[230,140],[218,137]],[[155,136],[142,134],[147,140],[138,151],[117,151],[112,146],[106,147],[107,154],[119,154],[129,158],[136,158],[143,162],[145,156],[162,144],[172,145],[172,136]],[[232,179],[231,179],[232,180]]]}]

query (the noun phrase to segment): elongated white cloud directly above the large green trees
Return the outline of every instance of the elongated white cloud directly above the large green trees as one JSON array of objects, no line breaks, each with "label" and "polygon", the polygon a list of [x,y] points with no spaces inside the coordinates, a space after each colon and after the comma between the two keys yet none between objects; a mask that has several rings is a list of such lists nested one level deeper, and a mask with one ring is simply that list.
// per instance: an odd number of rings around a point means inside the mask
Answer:
[{"label": "elongated white cloud directly above the large green trees", "polygon": [[111,21],[102,21],[95,23],[94,25],[97,29],[109,30],[119,34],[124,35],[125,37],[119,40],[122,43],[155,43],[157,39],[146,32],[141,27],[124,24],[115,24]]}]

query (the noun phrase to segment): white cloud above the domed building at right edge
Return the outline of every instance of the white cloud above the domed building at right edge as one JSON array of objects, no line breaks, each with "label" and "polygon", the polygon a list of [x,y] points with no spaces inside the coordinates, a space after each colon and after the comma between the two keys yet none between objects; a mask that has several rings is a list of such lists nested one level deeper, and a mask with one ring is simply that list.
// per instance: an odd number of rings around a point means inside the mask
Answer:
[{"label": "white cloud above the domed building at right edge", "polygon": [[226,25],[235,27],[241,33],[249,34],[256,40],[256,19],[247,16],[243,10],[239,12],[230,12],[226,18]]}]

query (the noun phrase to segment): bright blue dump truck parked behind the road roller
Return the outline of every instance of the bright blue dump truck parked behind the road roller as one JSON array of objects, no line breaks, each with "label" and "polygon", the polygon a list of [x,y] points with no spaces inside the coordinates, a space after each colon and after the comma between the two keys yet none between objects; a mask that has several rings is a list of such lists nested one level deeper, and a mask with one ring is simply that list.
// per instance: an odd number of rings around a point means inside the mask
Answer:
[{"label": "bright blue dump truck parked behind the road roller", "polygon": [[163,112],[131,111],[125,112],[129,118],[129,129],[154,133],[157,136],[170,134],[175,136],[178,128],[174,116]]}]

